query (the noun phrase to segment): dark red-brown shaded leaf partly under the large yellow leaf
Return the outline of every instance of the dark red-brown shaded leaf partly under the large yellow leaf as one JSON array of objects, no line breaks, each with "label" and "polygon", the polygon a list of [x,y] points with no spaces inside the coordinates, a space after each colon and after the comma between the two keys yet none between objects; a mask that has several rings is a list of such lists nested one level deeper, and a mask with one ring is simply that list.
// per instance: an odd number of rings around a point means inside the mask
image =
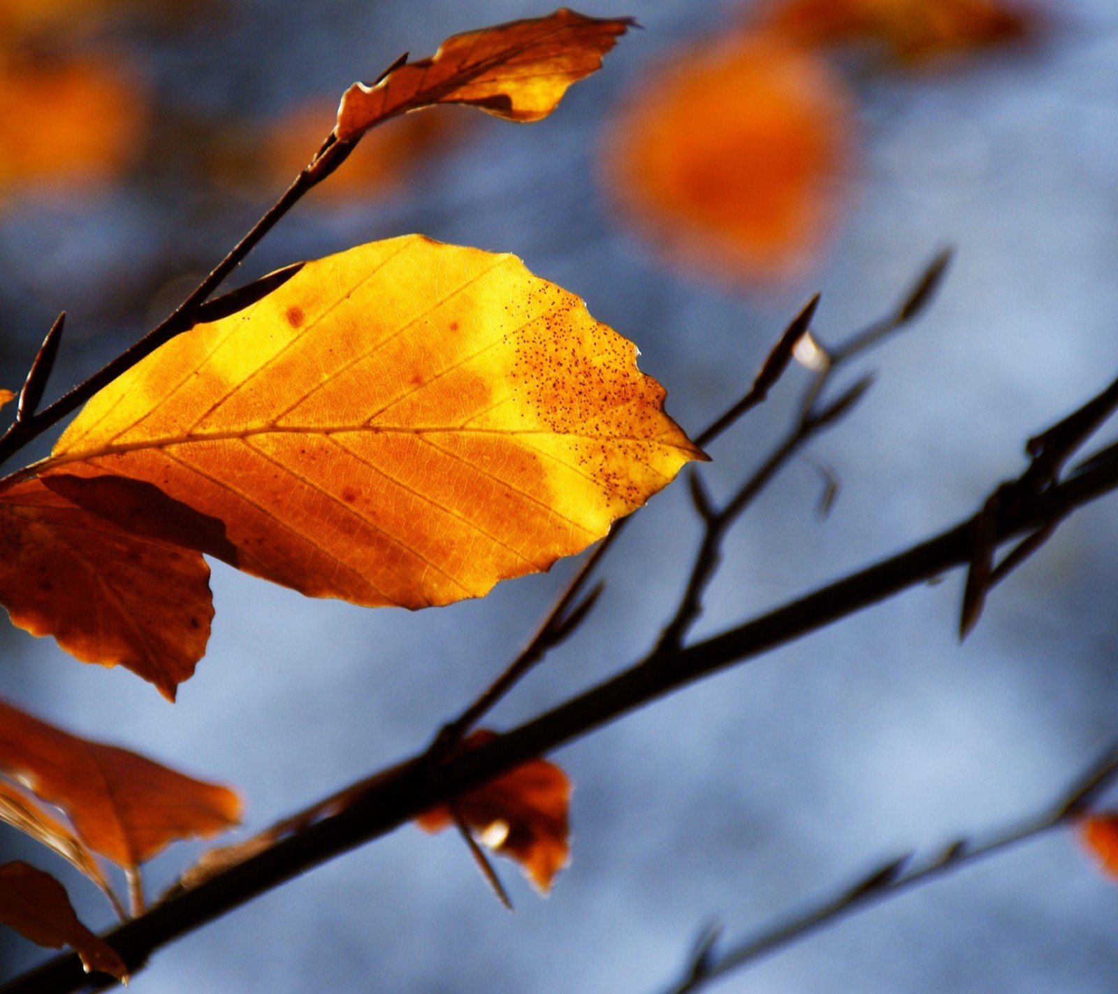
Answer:
[{"label": "dark red-brown shaded leaf partly under the large yellow leaf", "polygon": [[198,552],[124,531],[38,480],[0,491],[0,604],[15,624],[174,700],[214,617]]}]

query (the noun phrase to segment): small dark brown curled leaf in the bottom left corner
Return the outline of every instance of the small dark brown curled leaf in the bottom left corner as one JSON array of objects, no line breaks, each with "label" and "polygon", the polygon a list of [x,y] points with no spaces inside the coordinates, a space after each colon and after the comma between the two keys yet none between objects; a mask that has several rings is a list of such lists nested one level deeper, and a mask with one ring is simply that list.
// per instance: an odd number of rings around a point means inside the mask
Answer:
[{"label": "small dark brown curled leaf in the bottom left corner", "polygon": [[0,867],[0,922],[39,946],[69,946],[86,973],[107,973],[122,984],[129,981],[120,955],[78,920],[66,888],[35,867],[23,862]]}]

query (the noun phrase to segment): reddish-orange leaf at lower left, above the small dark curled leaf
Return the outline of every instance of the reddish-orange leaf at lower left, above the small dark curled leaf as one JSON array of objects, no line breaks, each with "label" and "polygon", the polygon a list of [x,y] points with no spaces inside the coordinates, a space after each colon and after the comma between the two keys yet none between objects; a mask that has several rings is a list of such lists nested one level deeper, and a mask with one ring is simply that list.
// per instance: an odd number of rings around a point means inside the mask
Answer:
[{"label": "reddish-orange leaf at lower left, above the small dark curled leaf", "polygon": [[3,701],[0,770],[65,811],[89,849],[125,869],[176,839],[224,832],[240,814],[227,787],[72,736]]}]

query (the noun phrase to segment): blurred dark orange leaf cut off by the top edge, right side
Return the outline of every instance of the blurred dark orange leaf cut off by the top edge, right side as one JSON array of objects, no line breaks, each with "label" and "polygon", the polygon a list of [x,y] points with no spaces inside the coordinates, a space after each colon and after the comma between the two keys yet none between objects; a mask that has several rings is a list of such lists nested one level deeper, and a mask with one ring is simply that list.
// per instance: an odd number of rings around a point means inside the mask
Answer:
[{"label": "blurred dark orange leaf cut off by the top edge, right side", "polygon": [[1002,0],[776,0],[761,23],[809,45],[878,42],[925,61],[1021,40],[1036,16]]}]

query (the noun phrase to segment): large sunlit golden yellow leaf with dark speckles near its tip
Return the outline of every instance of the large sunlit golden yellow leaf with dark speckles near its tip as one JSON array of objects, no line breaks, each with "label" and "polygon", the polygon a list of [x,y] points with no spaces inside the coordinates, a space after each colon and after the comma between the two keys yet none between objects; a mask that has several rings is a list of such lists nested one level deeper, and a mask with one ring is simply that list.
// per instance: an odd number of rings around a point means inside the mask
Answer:
[{"label": "large sunlit golden yellow leaf with dark speckles near its tip", "polygon": [[110,518],[158,487],[125,527],[311,596],[446,604],[580,551],[704,458],[635,359],[514,256],[410,235],[173,339],[40,474]]}]

